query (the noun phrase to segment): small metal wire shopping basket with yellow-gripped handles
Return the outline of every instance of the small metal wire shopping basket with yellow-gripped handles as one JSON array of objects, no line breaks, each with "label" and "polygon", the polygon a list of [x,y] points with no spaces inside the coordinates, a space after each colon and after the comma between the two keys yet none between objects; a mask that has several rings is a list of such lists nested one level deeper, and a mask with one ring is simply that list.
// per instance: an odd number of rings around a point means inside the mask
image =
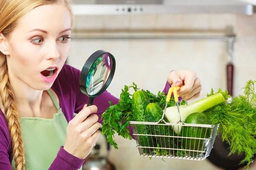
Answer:
[{"label": "small metal wire shopping basket with yellow-gripped handles", "polygon": [[[173,90],[179,121],[176,123],[166,122],[164,120],[165,107],[162,119],[158,122],[129,122],[140,156],[198,161],[204,160],[209,156],[219,125],[188,124],[183,122],[180,119],[178,89],[170,88],[166,101],[169,102],[170,99],[168,100],[168,98],[170,98],[170,92]],[[180,133],[175,133],[175,129]]]}]

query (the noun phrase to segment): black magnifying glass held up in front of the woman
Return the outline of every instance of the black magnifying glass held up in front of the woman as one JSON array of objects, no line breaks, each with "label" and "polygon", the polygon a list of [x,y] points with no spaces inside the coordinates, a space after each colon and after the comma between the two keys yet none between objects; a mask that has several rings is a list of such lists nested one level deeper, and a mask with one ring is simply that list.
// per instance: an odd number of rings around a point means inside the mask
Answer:
[{"label": "black magnifying glass held up in front of the woman", "polygon": [[110,85],[116,69],[114,56],[104,50],[94,52],[84,63],[81,70],[79,87],[89,97],[87,106],[102,94]]}]

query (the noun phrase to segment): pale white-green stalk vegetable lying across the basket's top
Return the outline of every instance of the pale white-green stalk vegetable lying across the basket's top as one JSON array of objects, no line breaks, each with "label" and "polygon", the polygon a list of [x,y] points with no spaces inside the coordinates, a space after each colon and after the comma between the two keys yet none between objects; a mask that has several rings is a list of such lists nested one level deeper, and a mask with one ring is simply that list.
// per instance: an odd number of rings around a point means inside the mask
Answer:
[{"label": "pale white-green stalk vegetable lying across the basket's top", "polygon": [[[221,93],[214,94],[212,96],[208,96],[207,98],[198,100],[190,105],[181,105],[179,106],[180,110],[180,118],[184,121],[187,116],[195,112],[203,112],[209,108],[212,108],[215,105],[218,105],[224,102],[225,99]],[[179,121],[177,106],[172,106],[166,108],[166,117],[170,123],[176,123]],[[177,125],[182,124],[179,122]],[[181,128],[179,126],[174,126],[175,133],[179,134]]]}]

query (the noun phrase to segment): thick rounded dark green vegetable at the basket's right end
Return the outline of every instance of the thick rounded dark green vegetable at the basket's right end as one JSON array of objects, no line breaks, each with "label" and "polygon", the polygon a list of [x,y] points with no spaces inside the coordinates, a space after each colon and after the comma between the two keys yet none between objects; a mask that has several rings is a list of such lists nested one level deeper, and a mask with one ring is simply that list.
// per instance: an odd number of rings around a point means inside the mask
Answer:
[{"label": "thick rounded dark green vegetable at the basket's right end", "polygon": [[[201,112],[192,113],[185,119],[185,123],[190,124],[205,124],[211,125],[212,122],[207,115]],[[209,138],[211,136],[211,128],[207,127],[187,127],[183,126],[182,136],[184,137],[196,137],[196,138]],[[186,150],[198,150],[205,151],[207,149],[207,140],[203,139],[185,139],[183,138],[182,146]],[[186,151],[190,156],[202,156],[202,152]]]}]

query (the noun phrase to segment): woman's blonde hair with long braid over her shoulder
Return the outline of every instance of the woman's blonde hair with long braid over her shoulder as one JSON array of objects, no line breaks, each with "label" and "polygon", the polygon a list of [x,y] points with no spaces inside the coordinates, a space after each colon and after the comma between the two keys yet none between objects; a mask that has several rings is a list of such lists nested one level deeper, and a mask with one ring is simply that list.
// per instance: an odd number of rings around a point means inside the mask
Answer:
[{"label": "woman's blonde hair with long braid over her shoulder", "polygon": [[[24,14],[37,6],[55,3],[64,3],[73,16],[70,0],[0,0],[0,33],[2,32],[3,36],[8,38],[17,26],[19,18]],[[0,97],[9,126],[16,170],[25,170],[20,118],[15,103],[15,94],[8,76],[6,56],[2,52],[0,52]]]}]

